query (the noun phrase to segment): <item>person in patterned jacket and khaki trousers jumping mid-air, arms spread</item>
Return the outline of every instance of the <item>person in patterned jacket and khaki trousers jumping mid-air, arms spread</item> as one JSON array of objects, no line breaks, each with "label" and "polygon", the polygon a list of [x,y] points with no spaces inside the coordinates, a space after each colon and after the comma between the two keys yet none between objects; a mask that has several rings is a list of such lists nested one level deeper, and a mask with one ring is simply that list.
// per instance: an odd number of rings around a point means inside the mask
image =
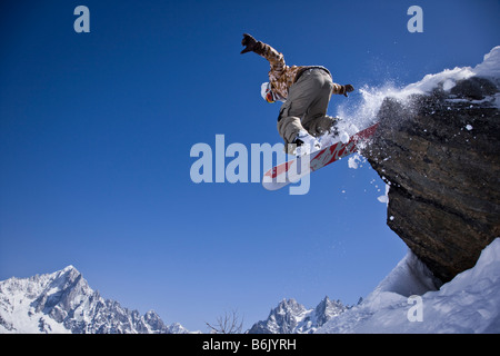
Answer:
[{"label": "person in patterned jacket and khaki trousers jumping mid-air, arms spread", "polygon": [[261,86],[261,96],[268,102],[283,101],[278,117],[278,132],[289,154],[298,154],[304,144],[318,146],[317,138],[334,132],[337,119],[327,116],[332,93],[348,96],[351,85],[340,86],[332,81],[330,71],[321,66],[292,66],[284,63],[283,55],[271,46],[257,41],[244,33],[241,55],[253,51],[271,65],[269,82]]}]

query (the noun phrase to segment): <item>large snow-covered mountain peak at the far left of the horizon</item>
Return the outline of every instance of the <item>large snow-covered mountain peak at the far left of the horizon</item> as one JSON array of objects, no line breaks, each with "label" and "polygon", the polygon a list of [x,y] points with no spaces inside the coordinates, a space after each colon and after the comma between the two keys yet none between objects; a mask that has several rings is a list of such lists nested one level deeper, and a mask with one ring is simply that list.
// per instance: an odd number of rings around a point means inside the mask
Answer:
[{"label": "large snow-covered mountain peak at the far left of the horizon", "polygon": [[1,333],[171,334],[154,312],[144,316],[103,299],[73,266],[52,274],[0,281]]}]

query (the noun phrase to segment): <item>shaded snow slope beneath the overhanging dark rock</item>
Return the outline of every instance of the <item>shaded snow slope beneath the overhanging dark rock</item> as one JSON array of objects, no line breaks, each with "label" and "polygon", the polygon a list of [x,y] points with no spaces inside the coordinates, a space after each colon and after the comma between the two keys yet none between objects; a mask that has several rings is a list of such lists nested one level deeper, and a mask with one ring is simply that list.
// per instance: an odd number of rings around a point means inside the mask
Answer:
[{"label": "shaded snow slope beneath the overhanging dark rock", "polygon": [[[317,333],[500,333],[500,238],[473,268],[438,286],[408,253],[363,303]],[[419,308],[421,320],[413,314]]]}]

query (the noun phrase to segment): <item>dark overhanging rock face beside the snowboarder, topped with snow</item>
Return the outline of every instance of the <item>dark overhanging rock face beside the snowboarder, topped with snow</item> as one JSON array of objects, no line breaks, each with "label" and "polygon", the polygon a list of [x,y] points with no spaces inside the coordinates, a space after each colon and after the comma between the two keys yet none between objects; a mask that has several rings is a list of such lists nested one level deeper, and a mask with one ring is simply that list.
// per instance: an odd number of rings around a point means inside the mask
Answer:
[{"label": "dark overhanging rock face beside the snowboarder, topped with snow", "polygon": [[449,92],[387,98],[362,152],[390,185],[387,224],[443,283],[500,236],[497,92],[472,78]]}]

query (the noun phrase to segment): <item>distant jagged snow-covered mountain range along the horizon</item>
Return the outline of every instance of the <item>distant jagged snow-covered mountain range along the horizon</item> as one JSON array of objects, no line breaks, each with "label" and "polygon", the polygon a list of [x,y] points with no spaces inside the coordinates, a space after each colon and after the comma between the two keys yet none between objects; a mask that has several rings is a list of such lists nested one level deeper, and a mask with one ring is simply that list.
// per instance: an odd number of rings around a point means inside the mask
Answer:
[{"label": "distant jagged snow-covered mountain range along the horizon", "polygon": [[[313,309],[283,299],[248,334],[311,334],[349,309],[328,297]],[[157,313],[140,315],[104,299],[73,266],[52,274],[0,281],[0,334],[188,334]],[[197,332],[198,333],[198,332]]]}]

